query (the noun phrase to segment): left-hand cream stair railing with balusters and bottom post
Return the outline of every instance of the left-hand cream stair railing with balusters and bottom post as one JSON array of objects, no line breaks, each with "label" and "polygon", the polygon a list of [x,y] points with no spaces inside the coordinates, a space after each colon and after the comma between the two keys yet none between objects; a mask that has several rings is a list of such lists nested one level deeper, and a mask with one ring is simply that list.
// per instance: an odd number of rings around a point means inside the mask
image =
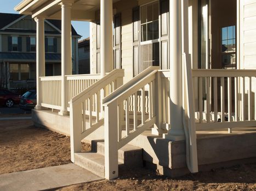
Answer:
[{"label": "left-hand cream stair railing with balusters and bottom post", "polygon": [[[115,69],[70,101],[71,161],[81,152],[81,140],[103,126],[102,100],[123,85],[123,69]],[[115,115],[115,114],[112,114]]]}]

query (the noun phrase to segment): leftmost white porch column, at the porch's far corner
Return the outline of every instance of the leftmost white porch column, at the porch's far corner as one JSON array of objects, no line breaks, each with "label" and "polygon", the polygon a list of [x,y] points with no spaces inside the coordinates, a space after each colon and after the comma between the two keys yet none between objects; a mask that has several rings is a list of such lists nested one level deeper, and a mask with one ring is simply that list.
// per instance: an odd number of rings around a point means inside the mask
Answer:
[{"label": "leftmost white porch column, at the porch's far corner", "polygon": [[42,93],[39,77],[45,76],[45,49],[44,49],[44,18],[36,17],[36,86],[37,86],[37,105],[36,110],[42,109]]}]

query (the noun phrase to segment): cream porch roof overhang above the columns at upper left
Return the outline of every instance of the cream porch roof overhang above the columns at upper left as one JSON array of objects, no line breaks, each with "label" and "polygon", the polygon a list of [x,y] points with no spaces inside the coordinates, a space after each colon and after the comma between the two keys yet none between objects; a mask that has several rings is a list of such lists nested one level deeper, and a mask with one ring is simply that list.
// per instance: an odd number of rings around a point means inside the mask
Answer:
[{"label": "cream porch roof overhang above the columns at upper left", "polygon": [[[113,0],[113,3],[120,0]],[[71,20],[92,21],[95,10],[100,9],[100,0],[23,0],[14,9],[20,14],[43,17],[45,19],[61,19],[61,3],[71,2]]]}]

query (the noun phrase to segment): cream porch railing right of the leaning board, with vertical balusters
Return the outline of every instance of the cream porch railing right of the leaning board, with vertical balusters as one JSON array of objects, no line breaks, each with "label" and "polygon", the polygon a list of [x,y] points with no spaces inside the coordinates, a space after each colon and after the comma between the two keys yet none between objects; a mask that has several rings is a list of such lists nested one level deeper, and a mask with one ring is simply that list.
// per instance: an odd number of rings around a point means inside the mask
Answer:
[{"label": "cream porch railing right of the leaning board, with vertical balusters", "polygon": [[197,130],[256,126],[256,70],[194,69],[192,76],[198,80]]}]

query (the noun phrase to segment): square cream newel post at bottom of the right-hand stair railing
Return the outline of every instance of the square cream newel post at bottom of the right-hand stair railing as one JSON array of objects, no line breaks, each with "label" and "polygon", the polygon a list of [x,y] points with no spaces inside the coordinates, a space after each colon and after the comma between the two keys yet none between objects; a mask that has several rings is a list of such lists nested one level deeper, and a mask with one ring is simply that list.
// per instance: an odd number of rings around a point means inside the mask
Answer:
[{"label": "square cream newel post at bottom of the right-hand stair railing", "polygon": [[105,178],[118,177],[118,108],[117,102],[105,107]]}]

